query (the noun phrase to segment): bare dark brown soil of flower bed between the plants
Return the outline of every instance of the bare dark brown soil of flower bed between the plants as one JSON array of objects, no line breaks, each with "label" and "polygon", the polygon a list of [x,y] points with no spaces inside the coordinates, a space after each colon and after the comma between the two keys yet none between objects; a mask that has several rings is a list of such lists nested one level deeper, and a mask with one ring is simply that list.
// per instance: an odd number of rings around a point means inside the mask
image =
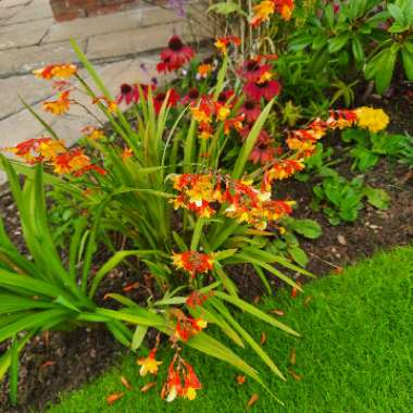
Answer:
[{"label": "bare dark brown soil of flower bed between the plants", "polygon": [[[386,107],[386,102],[381,102]],[[409,104],[404,98],[399,109]],[[377,105],[377,102],[376,104]],[[398,110],[396,116],[399,132],[412,130],[410,111]],[[406,113],[408,112],[408,113]],[[410,115],[410,116],[409,116]],[[342,167],[348,167],[343,165]],[[346,171],[340,171],[346,175]],[[289,180],[277,185],[277,196],[289,197],[299,204],[296,217],[317,221],[323,227],[323,236],[316,240],[301,240],[301,247],[311,259],[309,270],[322,276],[364,256],[370,256],[378,249],[408,245],[413,239],[413,174],[408,167],[383,161],[378,167],[365,176],[365,183],[385,189],[391,196],[391,206],[379,211],[366,206],[354,224],[331,226],[322,213],[310,209],[312,184]],[[0,188],[0,214],[5,228],[14,242],[24,249],[16,209],[10,193]],[[396,268],[395,264],[395,268]],[[249,276],[248,266],[231,272],[239,284],[241,292],[248,298],[262,296],[262,283],[258,277]],[[136,275],[134,275],[136,277]],[[114,273],[108,291],[122,291],[136,281],[140,286],[133,290],[133,297],[142,300],[148,295],[148,279],[130,279],[127,268]],[[305,281],[304,279],[302,281]],[[1,351],[4,351],[0,347]],[[20,370],[20,408],[8,405],[8,385],[0,385],[0,413],[28,412],[30,409],[41,411],[49,401],[55,401],[62,390],[74,389],[99,375],[114,364],[125,351],[115,343],[103,329],[80,329],[70,333],[50,333],[32,341],[24,350]]]}]

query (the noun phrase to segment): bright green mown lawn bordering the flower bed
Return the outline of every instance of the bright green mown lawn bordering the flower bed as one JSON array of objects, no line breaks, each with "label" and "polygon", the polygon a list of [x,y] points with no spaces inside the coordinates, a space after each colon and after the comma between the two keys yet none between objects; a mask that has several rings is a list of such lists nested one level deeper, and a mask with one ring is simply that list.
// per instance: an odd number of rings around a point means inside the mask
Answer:
[{"label": "bright green mown lawn bordering the flower bed", "polygon": [[[276,404],[251,380],[239,386],[236,372],[226,364],[187,352],[204,385],[196,401],[177,400],[171,404],[162,401],[159,392],[163,370],[158,386],[148,393],[127,391],[124,399],[108,406],[105,397],[123,389],[121,375],[137,389],[150,381],[150,377],[139,377],[135,359],[129,356],[79,391],[62,395],[61,404],[48,412],[237,413],[246,411],[248,400],[256,392],[259,400],[250,409],[252,412],[412,413],[412,290],[413,248],[400,248],[379,253],[341,275],[316,280],[306,286],[305,295],[295,300],[285,291],[268,299],[263,308],[283,309],[286,312],[283,321],[302,334],[300,339],[243,317],[258,340],[265,329],[265,349],[288,376],[287,383],[283,383],[264,368],[266,381],[286,408]],[[297,361],[291,367],[292,349]],[[163,351],[159,355],[168,353]],[[243,356],[250,364],[262,367],[253,354],[243,352]],[[289,368],[301,380],[295,380]]]}]

